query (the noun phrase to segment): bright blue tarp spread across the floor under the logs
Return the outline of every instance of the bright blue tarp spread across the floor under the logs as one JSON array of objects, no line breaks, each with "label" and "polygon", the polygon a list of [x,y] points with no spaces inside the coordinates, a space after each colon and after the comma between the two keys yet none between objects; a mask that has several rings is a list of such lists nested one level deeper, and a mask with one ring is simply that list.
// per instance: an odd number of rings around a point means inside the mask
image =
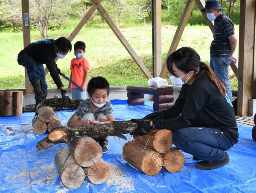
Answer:
[{"label": "bright blue tarp spread across the floor under the logs", "polygon": [[[116,120],[142,118],[153,112],[152,103],[129,106],[126,100],[113,100]],[[59,111],[66,125],[74,111]],[[35,112],[22,116],[0,117],[0,191],[1,192],[256,192],[256,141],[252,128],[239,126],[239,142],[228,150],[230,163],[215,170],[199,170],[195,160],[184,153],[185,163],[180,172],[164,169],[157,176],[147,176],[122,158],[124,140],[109,137],[109,151],[103,159],[110,163],[112,176],[100,185],[85,178],[82,186],[70,189],[61,183],[54,164],[56,152],[63,143],[38,151],[36,143],[47,136],[35,135],[32,118]],[[11,126],[15,135],[8,135]],[[129,135],[126,135],[127,138]]]}]

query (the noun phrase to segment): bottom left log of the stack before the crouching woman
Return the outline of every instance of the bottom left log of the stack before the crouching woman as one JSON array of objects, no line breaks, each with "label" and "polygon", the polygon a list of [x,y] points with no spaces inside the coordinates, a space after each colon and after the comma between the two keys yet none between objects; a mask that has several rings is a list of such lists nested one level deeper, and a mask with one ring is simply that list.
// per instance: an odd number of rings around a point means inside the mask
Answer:
[{"label": "bottom left log of the stack before the crouching woman", "polygon": [[[141,170],[141,172],[146,175],[157,175],[162,169],[163,158],[150,148],[146,147],[142,152],[143,149],[144,145],[135,140],[126,143],[123,147],[124,160]],[[157,159],[154,161],[156,157]]]}]

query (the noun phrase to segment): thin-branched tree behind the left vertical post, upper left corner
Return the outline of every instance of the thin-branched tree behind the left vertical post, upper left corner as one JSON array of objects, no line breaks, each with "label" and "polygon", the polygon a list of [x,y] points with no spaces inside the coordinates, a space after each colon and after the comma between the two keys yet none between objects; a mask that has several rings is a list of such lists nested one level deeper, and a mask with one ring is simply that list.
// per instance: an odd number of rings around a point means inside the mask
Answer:
[{"label": "thin-branched tree behind the left vertical post, upper left corner", "polygon": [[[3,0],[1,9],[5,12],[3,20],[20,30],[22,27],[21,1]],[[68,0],[30,0],[30,26],[39,29],[42,38],[47,38],[49,26],[58,28],[66,23],[68,16]]]}]

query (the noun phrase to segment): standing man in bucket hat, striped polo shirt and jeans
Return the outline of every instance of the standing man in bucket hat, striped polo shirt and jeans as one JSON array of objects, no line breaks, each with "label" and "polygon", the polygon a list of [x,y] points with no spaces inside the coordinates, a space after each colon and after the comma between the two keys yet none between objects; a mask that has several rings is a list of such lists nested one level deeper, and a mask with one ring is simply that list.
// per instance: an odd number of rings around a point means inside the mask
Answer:
[{"label": "standing man in bucket hat, striped polo shirt and jeans", "polygon": [[213,41],[210,48],[210,67],[226,87],[226,94],[232,99],[232,92],[229,82],[229,65],[235,64],[234,57],[237,38],[234,34],[234,24],[224,13],[221,12],[219,1],[208,0],[204,9],[207,18],[214,21]]}]

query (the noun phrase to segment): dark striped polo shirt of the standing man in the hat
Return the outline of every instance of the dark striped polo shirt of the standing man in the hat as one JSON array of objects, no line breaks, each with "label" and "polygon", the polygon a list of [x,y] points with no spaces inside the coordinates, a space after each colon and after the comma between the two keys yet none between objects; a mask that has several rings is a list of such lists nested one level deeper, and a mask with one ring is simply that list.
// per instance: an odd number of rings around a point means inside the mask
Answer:
[{"label": "dark striped polo shirt of the standing man in the hat", "polygon": [[230,57],[229,36],[234,35],[234,24],[224,13],[214,20],[210,57]]}]

